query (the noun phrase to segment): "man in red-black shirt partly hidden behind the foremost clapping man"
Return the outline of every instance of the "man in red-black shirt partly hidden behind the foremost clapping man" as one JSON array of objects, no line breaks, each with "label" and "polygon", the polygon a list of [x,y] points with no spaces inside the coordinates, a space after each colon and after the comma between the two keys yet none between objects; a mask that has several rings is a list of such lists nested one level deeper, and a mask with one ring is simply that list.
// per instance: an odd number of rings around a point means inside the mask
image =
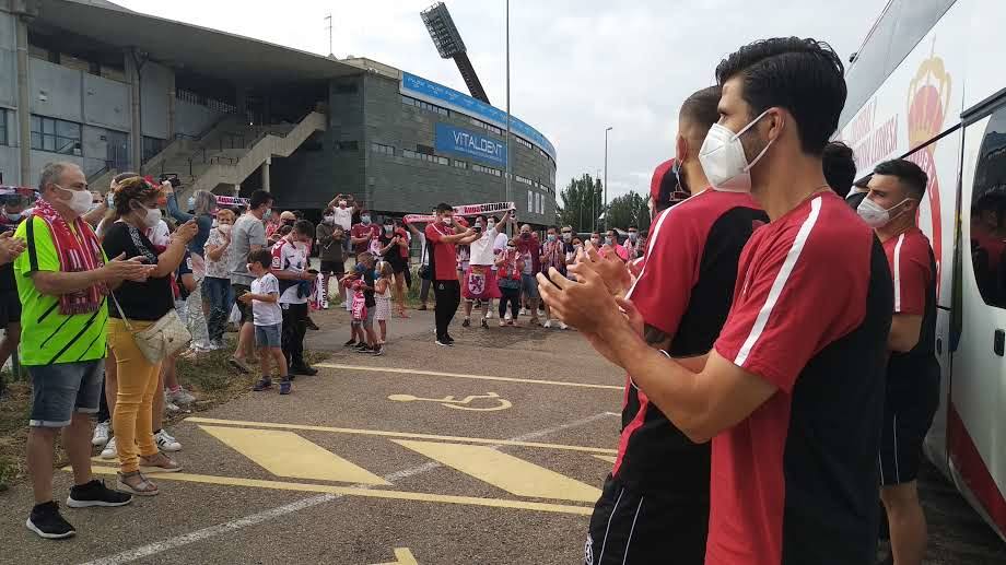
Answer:
[{"label": "man in red-black shirt partly hidden behind the foremost clapping man", "polygon": [[[750,193],[705,188],[699,148],[720,117],[720,94],[718,86],[692,94],[678,116],[676,162],[701,192],[656,216],[631,286],[622,261],[606,258],[616,274],[607,278],[608,290],[628,291],[646,322],[646,342],[674,357],[712,349],[730,308],[740,250],[769,220]],[[675,179],[680,170],[664,167]],[[657,192],[654,200],[667,198]],[[674,563],[701,565],[709,472],[709,443],[689,439],[627,376],[618,457],[590,518],[585,555],[590,553],[595,565],[660,563],[671,555]]]}]

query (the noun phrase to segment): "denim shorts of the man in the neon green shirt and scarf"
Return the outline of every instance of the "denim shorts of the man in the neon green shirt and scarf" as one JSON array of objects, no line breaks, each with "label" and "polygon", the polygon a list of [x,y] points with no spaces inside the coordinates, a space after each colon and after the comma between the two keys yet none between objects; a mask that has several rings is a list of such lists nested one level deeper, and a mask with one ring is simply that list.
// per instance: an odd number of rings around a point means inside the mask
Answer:
[{"label": "denim shorts of the man in the neon green shirt and scarf", "polygon": [[33,427],[65,427],[73,412],[94,414],[102,397],[105,360],[25,366],[32,377]]}]

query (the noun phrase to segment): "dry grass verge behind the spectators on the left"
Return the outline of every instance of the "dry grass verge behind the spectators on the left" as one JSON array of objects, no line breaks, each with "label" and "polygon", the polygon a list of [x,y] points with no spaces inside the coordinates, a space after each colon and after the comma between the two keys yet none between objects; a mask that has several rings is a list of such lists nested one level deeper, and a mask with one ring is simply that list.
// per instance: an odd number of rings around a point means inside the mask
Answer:
[{"label": "dry grass verge behind the spectators on the left", "polygon": [[[177,362],[178,381],[192,391],[196,402],[191,412],[201,412],[232,400],[252,390],[255,380],[252,375],[242,375],[227,364],[227,357],[234,351],[235,333],[226,336],[227,348],[202,354],[194,360],[179,358]],[[327,355],[320,352],[305,352],[308,363],[320,363]],[[0,492],[7,485],[17,483],[27,476],[25,462],[25,443],[27,442],[27,421],[32,409],[32,386],[25,380],[12,381],[11,375],[3,373],[7,389],[0,397]],[[168,425],[179,422],[191,412],[166,413],[164,422]],[[56,467],[67,464],[66,454],[56,443]]]}]

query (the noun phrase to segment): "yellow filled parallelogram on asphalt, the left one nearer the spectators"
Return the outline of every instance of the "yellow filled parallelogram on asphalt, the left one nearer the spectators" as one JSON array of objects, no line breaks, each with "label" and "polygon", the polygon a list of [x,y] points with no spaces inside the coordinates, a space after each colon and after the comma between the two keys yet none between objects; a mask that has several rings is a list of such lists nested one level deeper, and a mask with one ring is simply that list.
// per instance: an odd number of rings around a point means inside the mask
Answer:
[{"label": "yellow filled parallelogram on asphalt, the left one nearer the spectators", "polygon": [[277,476],[354,484],[391,484],[293,432],[199,427]]}]

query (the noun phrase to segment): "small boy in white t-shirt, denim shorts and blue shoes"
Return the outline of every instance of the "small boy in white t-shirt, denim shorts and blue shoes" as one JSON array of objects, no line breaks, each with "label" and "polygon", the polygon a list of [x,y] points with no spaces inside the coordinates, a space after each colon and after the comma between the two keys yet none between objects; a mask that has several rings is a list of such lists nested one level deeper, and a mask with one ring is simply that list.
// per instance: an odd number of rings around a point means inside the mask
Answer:
[{"label": "small boy in white t-shirt, denim shorts and blue shoes", "polygon": [[280,374],[280,395],[290,393],[290,376],[286,374],[286,357],[280,342],[283,328],[283,311],[280,309],[280,282],[269,272],[272,254],[269,249],[256,249],[248,254],[248,272],[255,275],[252,292],[237,297],[238,301],[252,303],[252,316],[255,322],[255,343],[259,348],[259,366],[262,378],[253,390],[261,391],[272,387],[269,377],[269,357],[276,362]]}]

